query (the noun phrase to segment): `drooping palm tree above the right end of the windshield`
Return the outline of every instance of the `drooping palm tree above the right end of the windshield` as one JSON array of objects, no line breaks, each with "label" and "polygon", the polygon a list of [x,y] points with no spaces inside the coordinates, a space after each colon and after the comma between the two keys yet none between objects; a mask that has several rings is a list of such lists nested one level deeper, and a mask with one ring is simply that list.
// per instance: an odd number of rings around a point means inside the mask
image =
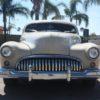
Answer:
[{"label": "drooping palm tree above the right end of the windshield", "polygon": [[80,25],[81,22],[84,21],[85,25],[87,26],[89,23],[89,17],[85,13],[77,11],[76,7],[78,3],[82,3],[81,0],[71,0],[69,8],[65,6],[64,12],[69,17],[70,22],[72,22],[74,19],[76,20],[76,25],[77,22]]}]

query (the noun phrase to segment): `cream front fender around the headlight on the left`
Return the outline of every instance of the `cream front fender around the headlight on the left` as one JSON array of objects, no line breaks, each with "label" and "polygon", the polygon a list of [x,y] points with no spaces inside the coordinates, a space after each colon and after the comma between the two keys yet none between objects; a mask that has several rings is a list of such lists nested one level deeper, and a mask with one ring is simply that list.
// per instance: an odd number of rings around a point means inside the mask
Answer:
[{"label": "cream front fender around the headlight on the left", "polygon": [[11,57],[3,57],[0,54],[1,66],[4,66],[5,61],[9,61],[10,66],[8,66],[8,67],[11,67],[11,66],[13,67],[13,66],[15,66],[16,61],[18,61],[19,58],[31,54],[30,48],[21,42],[14,42],[14,41],[6,42],[0,47],[0,49],[4,46],[11,47],[13,54]]}]

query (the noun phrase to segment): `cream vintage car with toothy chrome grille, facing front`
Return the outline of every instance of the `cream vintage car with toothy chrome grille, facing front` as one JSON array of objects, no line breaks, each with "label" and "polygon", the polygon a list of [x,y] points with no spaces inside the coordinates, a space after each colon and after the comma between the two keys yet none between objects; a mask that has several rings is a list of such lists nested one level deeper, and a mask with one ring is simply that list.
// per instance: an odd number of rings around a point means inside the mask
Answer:
[{"label": "cream vintage car with toothy chrome grille, facing front", "polygon": [[34,21],[25,26],[20,42],[0,47],[0,77],[6,79],[83,79],[94,86],[100,77],[100,48],[82,43],[75,25]]}]

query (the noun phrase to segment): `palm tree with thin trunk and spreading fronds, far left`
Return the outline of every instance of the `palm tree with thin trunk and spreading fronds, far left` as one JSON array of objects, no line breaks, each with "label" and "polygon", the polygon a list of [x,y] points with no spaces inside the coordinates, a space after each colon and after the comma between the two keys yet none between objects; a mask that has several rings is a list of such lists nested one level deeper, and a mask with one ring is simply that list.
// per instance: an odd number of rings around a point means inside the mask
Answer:
[{"label": "palm tree with thin trunk and spreading fronds, far left", "polygon": [[6,34],[7,34],[7,16],[15,17],[15,14],[20,14],[23,16],[28,16],[29,10],[22,6],[19,3],[13,4],[13,0],[0,0],[0,14],[3,14],[3,23],[4,23],[4,38],[6,41]]}]

